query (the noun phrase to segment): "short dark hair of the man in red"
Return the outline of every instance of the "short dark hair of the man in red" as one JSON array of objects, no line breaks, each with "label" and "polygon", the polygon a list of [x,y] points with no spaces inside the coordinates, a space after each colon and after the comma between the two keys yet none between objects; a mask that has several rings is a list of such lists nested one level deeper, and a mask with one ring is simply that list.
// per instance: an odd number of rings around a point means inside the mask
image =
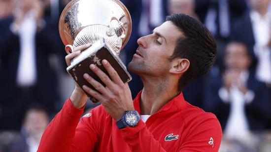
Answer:
[{"label": "short dark hair of the man in red", "polygon": [[166,18],[183,33],[176,42],[169,60],[185,58],[190,62],[188,70],[179,79],[178,89],[182,91],[192,80],[205,75],[216,59],[216,42],[208,29],[197,19],[185,14],[170,14]]}]

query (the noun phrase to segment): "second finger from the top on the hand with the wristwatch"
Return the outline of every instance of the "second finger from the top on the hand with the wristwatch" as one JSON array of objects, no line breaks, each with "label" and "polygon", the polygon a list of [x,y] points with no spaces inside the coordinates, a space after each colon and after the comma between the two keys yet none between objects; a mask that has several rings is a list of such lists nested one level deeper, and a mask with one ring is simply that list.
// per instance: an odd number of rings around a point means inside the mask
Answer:
[{"label": "second finger from the top on the hand with the wristwatch", "polygon": [[91,64],[90,69],[102,80],[102,82],[109,88],[114,86],[112,80],[96,65]]}]

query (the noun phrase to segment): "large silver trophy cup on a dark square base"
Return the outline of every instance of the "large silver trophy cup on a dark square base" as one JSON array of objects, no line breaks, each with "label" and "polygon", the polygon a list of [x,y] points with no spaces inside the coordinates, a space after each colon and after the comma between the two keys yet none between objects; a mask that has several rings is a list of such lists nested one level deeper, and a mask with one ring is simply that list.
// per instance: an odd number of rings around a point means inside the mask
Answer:
[{"label": "large silver trophy cup on a dark square base", "polygon": [[[106,59],[123,82],[130,81],[132,77],[118,55],[128,42],[131,32],[131,16],[121,1],[70,1],[59,20],[59,33],[66,46],[66,52],[69,54],[73,48],[83,44],[92,45],[71,61],[71,65],[67,68],[68,73],[79,86],[88,85],[96,90],[83,78],[83,74],[88,73],[102,83],[102,80],[89,69],[89,65],[96,64],[108,75],[101,64],[102,60]],[[87,95],[93,103],[99,102],[91,95]]]}]

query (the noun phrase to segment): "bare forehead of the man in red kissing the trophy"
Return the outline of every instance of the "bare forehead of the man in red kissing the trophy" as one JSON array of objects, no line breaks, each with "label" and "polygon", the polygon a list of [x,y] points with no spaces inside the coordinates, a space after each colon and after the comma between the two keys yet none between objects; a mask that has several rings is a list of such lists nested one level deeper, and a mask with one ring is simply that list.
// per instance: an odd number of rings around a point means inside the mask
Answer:
[{"label": "bare forehead of the man in red kissing the trophy", "polygon": [[161,26],[155,28],[154,32],[160,33],[166,38],[168,43],[174,43],[178,38],[184,36],[182,32],[171,22],[164,22]]}]

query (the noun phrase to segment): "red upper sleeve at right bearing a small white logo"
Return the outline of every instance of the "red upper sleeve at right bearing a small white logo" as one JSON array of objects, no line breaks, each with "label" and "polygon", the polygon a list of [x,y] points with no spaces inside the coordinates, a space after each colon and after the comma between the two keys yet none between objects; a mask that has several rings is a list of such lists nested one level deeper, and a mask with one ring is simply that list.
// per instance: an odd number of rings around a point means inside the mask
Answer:
[{"label": "red upper sleeve at right bearing a small white logo", "polygon": [[222,140],[222,130],[214,114],[199,116],[197,124],[191,125],[180,152],[218,152]]}]

